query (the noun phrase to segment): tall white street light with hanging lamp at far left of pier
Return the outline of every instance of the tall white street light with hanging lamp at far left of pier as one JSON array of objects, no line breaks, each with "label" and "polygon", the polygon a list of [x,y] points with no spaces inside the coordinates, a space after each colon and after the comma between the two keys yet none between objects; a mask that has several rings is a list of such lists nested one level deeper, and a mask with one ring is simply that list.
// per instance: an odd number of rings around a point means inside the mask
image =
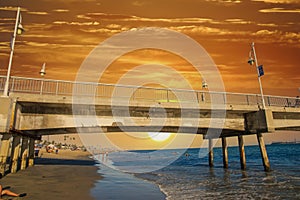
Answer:
[{"label": "tall white street light with hanging lamp at far left of pier", "polygon": [[11,71],[11,65],[12,65],[12,58],[14,55],[15,40],[16,40],[17,35],[20,35],[24,32],[24,28],[21,24],[21,21],[22,21],[22,17],[21,17],[21,13],[20,13],[20,7],[18,7],[14,34],[13,34],[13,37],[11,40],[11,50],[10,50],[10,57],[9,57],[7,75],[6,75],[6,82],[5,82],[4,91],[3,91],[3,96],[6,96],[6,97],[9,96],[8,87],[9,87],[9,78],[10,78],[10,71]]}]

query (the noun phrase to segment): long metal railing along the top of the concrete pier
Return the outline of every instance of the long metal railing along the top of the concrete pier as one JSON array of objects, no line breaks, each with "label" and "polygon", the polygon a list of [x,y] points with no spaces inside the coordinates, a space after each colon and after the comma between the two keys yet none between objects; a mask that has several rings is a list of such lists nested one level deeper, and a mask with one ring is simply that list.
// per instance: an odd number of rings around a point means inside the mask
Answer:
[{"label": "long metal railing along the top of the concrete pier", "polygon": [[[5,76],[0,76],[0,91],[3,92]],[[88,95],[94,97],[130,98],[133,100],[149,100],[158,102],[195,101],[199,103],[211,103],[214,99],[221,103],[238,105],[262,105],[262,99],[258,94],[242,94],[229,92],[212,92],[205,90],[183,90],[152,88],[140,86],[125,86],[92,82],[75,82],[51,79],[10,78],[10,93],[30,93],[47,95]],[[266,106],[300,107],[300,100],[295,97],[264,96]]]}]

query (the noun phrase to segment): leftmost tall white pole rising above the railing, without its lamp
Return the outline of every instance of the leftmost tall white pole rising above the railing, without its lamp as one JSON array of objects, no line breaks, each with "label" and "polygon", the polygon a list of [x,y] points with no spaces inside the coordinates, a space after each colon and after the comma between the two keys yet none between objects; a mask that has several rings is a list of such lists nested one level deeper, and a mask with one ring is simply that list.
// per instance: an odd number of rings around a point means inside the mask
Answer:
[{"label": "leftmost tall white pole rising above the railing, without its lamp", "polygon": [[15,40],[16,40],[16,36],[17,36],[19,20],[20,20],[20,7],[18,7],[18,10],[17,10],[15,29],[14,29],[14,34],[13,34],[13,38],[11,41],[11,50],[10,50],[10,57],[9,57],[7,75],[6,75],[6,82],[5,82],[4,91],[3,91],[3,96],[6,96],[6,97],[9,96],[9,94],[8,94],[9,78],[10,78],[10,71],[11,71],[11,65],[12,65],[12,58],[14,55],[14,47],[15,47]]}]

